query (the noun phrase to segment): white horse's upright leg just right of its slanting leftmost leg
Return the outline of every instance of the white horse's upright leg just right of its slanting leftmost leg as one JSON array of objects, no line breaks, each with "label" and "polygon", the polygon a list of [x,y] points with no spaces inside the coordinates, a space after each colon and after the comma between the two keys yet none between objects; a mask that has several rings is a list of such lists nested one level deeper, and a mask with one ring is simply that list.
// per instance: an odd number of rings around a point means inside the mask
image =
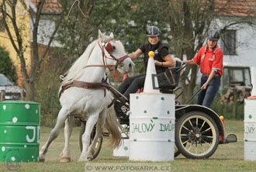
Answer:
[{"label": "white horse's upright leg just right of its slanting leftmost leg", "polygon": [[69,139],[71,137],[71,132],[72,132],[72,121],[73,121],[72,116],[67,117],[65,121],[65,128],[64,128],[65,144],[64,144],[64,150],[61,153],[61,162],[63,163],[67,163],[71,161]]}]

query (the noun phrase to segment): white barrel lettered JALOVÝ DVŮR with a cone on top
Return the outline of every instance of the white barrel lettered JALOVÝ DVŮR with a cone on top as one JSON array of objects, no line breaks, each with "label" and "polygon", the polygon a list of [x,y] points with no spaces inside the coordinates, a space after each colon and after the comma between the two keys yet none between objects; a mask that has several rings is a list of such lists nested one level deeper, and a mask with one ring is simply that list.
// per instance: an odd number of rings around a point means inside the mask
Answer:
[{"label": "white barrel lettered JALOV\u00dd DV\u016eR with a cone on top", "polygon": [[170,161],[175,150],[175,95],[130,94],[130,160]]}]

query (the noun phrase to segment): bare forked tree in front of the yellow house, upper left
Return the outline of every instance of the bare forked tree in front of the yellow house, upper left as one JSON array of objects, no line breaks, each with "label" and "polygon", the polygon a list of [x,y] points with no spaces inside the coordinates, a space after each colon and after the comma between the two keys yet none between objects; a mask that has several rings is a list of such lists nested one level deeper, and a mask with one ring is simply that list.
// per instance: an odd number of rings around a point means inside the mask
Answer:
[{"label": "bare forked tree in front of the yellow house, upper left", "polygon": [[[33,63],[31,66],[27,66],[24,52],[27,50],[28,43],[24,41],[25,29],[23,26],[19,24],[19,12],[17,12],[17,4],[22,4],[22,8],[25,10],[25,15],[29,14],[29,17],[32,21],[32,40],[31,40],[31,48],[33,52]],[[59,17],[56,20],[56,26],[49,37],[49,41],[43,50],[43,53],[39,52],[38,49],[38,29],[40,26],[40,19],[43,15],[43,8],[46,4],[46,0],[36,1],[36,10],[33,11],[32,8],[29,8],[25,0],[3,0],[0,3],[0,12],[2,14],[2,19],[5,25],[6,32],[8,33],[9,39],[12,43],[14,50],[19,57],[19,63],[21,66],[21,74],[23,77],[23,84],[26,89],[27,99],[33,101],[34,93],[35,93],[35,81],[39,75],[40,68],[42,66],[43,60],[47,57],[47,52],[50,49],[50,44],[54,40],[54,35],[57,32],[57,29],[60,26],[61,20],[63,19],[63,15],[61,12],[59,13]],[[56,4],[55,4],[56,5]],[[56,8],[56,6],[55,6]],[[19,10],[22,11],[22,10]],[[29,70],[28,70],[29,68]]]}]

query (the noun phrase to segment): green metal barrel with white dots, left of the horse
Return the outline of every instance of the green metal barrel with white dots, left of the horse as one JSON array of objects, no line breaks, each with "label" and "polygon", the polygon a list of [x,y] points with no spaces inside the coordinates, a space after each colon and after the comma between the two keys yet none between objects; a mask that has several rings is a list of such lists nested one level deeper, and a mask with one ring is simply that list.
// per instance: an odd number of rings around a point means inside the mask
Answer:
[{"label": "green metal barrel with white dots, left of the horse", "polygon": [[0,161],[39,160],[40,104],[33,101],[0,102]]}]

